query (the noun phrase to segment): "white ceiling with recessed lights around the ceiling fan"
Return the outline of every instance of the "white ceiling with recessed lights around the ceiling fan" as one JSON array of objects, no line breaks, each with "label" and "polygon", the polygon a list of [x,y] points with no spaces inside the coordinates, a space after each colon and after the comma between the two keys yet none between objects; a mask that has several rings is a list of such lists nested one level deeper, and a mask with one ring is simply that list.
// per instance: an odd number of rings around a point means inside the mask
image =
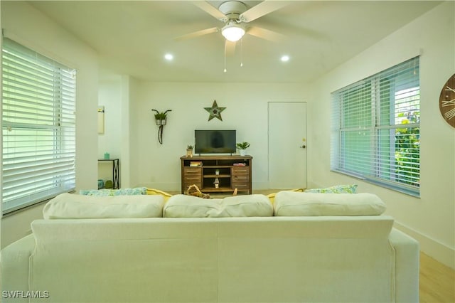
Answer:
[{"label": "white ceiling with recessed lights around the ceiling fan", "polygon": [[[223,3],[208,2],[217,8]],[[261,1],[243,2],[251,7]],[[250,23],[287,38],[277,43],[245,35],[242,48],[237,43],[235,53],[226,58],[226,73],[221,33],[174,40],[223,26],[191,1],[30,3],[95,49],[101,67],[116,73],[151,81],[306,83],[440,1],[289,1],[288,6]],[[172,53],[174,59],[164,60],[165,53]],[[291,58],[287,63],[279,60],[284,54]]]}]

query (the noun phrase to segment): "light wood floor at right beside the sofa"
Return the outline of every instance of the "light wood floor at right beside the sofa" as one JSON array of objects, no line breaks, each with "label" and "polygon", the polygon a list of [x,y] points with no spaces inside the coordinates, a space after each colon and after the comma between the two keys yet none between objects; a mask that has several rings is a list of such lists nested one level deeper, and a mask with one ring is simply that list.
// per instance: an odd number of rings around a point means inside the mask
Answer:
[{"label": "light wood floor at right beside the sofa", "polygon": [[421,303],[454,303],[455,270],[420,252]]}]

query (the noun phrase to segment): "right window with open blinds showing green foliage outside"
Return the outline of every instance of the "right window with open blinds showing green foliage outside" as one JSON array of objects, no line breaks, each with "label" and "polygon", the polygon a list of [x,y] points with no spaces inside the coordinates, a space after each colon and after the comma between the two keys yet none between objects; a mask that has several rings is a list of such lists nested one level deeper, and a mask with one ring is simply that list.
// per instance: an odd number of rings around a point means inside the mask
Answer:
[{"label": "right window with open blinds showing green foliage outside", "polygon": [[332,97],[331,169],[419,196],[419,58]]}]

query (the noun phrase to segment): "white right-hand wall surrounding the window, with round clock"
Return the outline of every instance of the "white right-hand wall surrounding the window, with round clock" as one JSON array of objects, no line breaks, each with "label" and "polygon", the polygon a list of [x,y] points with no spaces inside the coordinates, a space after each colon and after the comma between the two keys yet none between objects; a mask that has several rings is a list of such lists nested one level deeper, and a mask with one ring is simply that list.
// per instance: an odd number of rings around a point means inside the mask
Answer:
[{"label": "white right-hand wall surrounding the window, with round clock", "polygon": [[[377,193],[397,228],[420,241],[427,254],[455,268],[455,129],[439,113],[439,93],[455,72],[455,2],[448,1],[379,41],[314,83],[309,102],[309,186],[356,183]],[[422,53],[421,197],[365,183],[330,171],[331,92]]]}]

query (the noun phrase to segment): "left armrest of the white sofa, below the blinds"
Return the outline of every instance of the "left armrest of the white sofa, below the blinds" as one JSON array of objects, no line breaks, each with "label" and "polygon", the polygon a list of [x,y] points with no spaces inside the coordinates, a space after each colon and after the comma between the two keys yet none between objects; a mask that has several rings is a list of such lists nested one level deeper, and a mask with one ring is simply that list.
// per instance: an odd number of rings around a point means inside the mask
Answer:
[{"label": "left armrest of the white sofa, below the blinds", "polygon": [[27,292],[30,256],[35,250],[35,238],[27,235],[1,250],[1,302],[28,302],[27,298],[12,298],[6,292]]}]

